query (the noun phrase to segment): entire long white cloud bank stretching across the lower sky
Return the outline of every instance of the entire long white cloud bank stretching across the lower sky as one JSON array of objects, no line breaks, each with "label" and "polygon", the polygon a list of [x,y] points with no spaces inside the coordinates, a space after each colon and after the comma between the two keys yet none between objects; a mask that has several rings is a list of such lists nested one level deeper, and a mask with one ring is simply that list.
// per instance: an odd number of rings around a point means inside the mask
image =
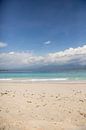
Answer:
[{"label": "entire long white cloud bank stretching across the lower sky", "polygon": [[0,53],[0,68],[36,67],[43,65],[86,65],[86,45],[37,56],[29,52]]}]

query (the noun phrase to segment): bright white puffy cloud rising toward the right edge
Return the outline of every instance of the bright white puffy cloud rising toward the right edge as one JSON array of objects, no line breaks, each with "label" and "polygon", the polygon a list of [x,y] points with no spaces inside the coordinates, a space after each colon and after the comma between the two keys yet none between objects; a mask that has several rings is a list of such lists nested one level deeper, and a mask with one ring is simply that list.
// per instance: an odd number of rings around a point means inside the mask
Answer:
[{"label": "bright white puffy cloud rising toward the right edge", "polygon": [[[86,45],[83,47],[69,48],[60,52],[49,53],[47,57],[48,61],[53,63],[64,64],[73,61],[75,62],[75,59],[77,59],[79,64],[82,64],[84,61],[86,61]],[[86,64],[86,62],[84,63]]]}]

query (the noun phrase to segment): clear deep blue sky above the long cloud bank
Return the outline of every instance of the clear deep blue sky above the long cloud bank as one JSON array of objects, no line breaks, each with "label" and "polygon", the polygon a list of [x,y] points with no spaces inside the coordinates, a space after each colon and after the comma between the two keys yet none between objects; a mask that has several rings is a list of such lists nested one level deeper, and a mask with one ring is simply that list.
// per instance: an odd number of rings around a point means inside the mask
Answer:
[{"label": "clear deep blue sky above the long cloud bank", "polygon": [[[1,53],[49,53],[86,44],[85,0],[0,0]],[[2,46],[2,45],[1,45]]]}]

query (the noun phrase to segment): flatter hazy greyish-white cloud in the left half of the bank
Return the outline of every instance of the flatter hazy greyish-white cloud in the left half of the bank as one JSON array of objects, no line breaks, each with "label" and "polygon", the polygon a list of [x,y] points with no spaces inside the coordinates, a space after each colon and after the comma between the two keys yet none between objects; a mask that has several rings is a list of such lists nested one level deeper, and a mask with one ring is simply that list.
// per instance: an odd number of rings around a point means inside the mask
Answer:
[{"label": "flatter hazy greyish-white cloud in the left half of the bank", "polygon": [[29,52],[0,53],[0,67],[19,68],[40,64],[42,56],[35,56]]}]

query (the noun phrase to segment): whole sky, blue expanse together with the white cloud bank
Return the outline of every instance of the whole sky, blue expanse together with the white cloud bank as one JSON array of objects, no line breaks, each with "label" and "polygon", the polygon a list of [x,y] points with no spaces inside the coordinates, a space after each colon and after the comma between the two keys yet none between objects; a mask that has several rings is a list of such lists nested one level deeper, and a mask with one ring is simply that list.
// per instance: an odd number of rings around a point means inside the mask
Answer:
[{"label": "whole sky, blue expanse together with the white cloud bank", "polygon": [[0,0],[1,69],[85,65],[85,45],[85,0]]}]

